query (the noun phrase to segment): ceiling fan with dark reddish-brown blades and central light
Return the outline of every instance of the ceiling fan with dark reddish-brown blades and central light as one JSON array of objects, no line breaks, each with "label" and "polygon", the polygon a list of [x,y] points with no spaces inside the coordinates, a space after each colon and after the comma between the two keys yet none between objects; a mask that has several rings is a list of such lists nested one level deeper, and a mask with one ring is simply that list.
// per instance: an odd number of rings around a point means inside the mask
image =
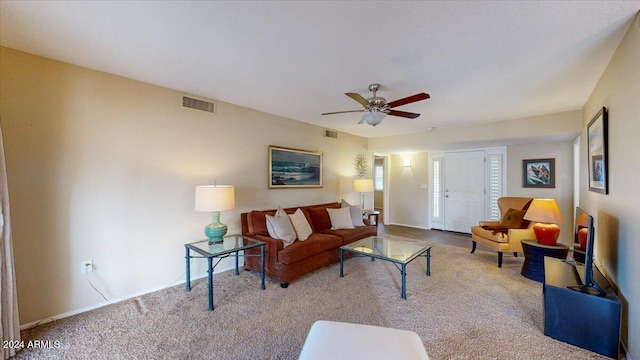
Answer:
[{"label": "ceiling fan with dark reddish-brown blades and central light", "polygon": [[367,99],[365,99],[362,95],[358,93],[345,93],[345,95],[347,95],[348,97],[359,102],[364,107],[364,109],[335,111],[335,112],[329,112],[329,113],[322,113],[322,115],[344,114],[344,113],[350,113],[350,112],[363,112],[364,114],[362,115],[362,120],[360,120],[358,124],[367,123],[369,125],[376,126],[382,122],[382,119],[384,119],[386,115],[400,116],[400,117],[405,117],[409,119],[417,118],[418,116],[420,116],[420,114],[393,110],[393,108],[430,98],[429,94],[418,93],[415,95],[408,96],[406,98],[387,102],[385,98],[376,95],[376,93],[378,92],[378,89],[380,89],[380,84],[369,85],[369,90],[373,92],[373,96]]}]

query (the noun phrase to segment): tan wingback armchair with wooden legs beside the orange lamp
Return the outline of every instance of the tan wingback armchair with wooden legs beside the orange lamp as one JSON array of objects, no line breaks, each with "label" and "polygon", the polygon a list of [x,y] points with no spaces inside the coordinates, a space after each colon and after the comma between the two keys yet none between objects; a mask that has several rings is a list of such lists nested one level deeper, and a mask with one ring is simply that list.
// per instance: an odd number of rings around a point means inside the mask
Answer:
[{"label": "tan wingback armchair with wooden legs beside the orange lamp", "polygon": [[473,248],[476,251],[476,243],[481,243],[498,251],[498,267],[502,267],[502,254],[513,252],[518,256],[522,252],[522,240],[535,239],[533,222],[523,220],[524,213],[529,207],[532,198],[526,197],[501,197],[498,199],[500,208],[500,221],[480,221],[478,226],[471,227]]}]

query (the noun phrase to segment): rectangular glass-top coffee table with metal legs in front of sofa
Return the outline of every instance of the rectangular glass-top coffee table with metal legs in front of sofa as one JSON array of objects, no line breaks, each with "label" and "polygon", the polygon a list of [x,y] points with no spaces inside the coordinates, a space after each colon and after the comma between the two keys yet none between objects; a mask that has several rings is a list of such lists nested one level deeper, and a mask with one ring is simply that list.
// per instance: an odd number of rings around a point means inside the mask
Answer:
[{"label": "rectangular glass-top coffee table with metal legs in front of sofa", "polygon": [[431,246],[403,240],[370,236],[340,247],[340,277],[344,277],[344,252],[355,256],[370,257],[371,261],[382,259],[392,262],[402,276],[402,292],[400,297],[407,298],[407,264],[417,257],[427,258],[427,276],[431,276]]}]

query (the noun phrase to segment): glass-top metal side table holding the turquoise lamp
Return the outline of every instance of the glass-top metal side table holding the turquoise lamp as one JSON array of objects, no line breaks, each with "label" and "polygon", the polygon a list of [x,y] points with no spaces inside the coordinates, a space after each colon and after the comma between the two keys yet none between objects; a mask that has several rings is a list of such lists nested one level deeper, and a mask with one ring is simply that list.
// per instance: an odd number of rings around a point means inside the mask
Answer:
[{"label": "glass-top metal side table holding the turquoise lamp", "polygon": [[[260,247],[260,255],[245,255],[244,253],[240,255],[240,251],[251,249],[254,247]],[[260,256],[260,289],[264,290],[264,247],[265,243],[258,240],[253,240],[250,238],[243,237],[241,235],[227,235],[224,239],[217,243],[210,243],[209,240],[201,240],[193,243],[185,244],[184,248],[186,251],[186,262],[187,262],[187,272],[186,272],[186,288],[187,291],[191,291],[191,259],[193,258],[206,258],[207,259],[207,285],[208,285],[208,293],[209,293],[209,311],[213,311],[213,270],[220,263],[220,261],[224,258],[232,256],[235,254],[236,259],[236,270],[235,274],[240,275],[238,271],[238,263],[239,257],[252,257],[252,256]],[[191,252],[195,252],[199,255],[191,255]],[[218,261],[213,263],[213,259],[218,259]]]}]

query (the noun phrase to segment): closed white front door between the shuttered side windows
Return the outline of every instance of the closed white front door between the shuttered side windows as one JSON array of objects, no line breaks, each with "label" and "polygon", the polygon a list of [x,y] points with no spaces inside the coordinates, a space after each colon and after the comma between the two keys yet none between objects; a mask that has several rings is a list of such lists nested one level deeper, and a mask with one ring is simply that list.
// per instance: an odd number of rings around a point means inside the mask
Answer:
[{"label": "closed white front door between the shuttered side windows", "polygon": [[485,152],[444,156],[444,230],[470,233],[484,220]]}]

